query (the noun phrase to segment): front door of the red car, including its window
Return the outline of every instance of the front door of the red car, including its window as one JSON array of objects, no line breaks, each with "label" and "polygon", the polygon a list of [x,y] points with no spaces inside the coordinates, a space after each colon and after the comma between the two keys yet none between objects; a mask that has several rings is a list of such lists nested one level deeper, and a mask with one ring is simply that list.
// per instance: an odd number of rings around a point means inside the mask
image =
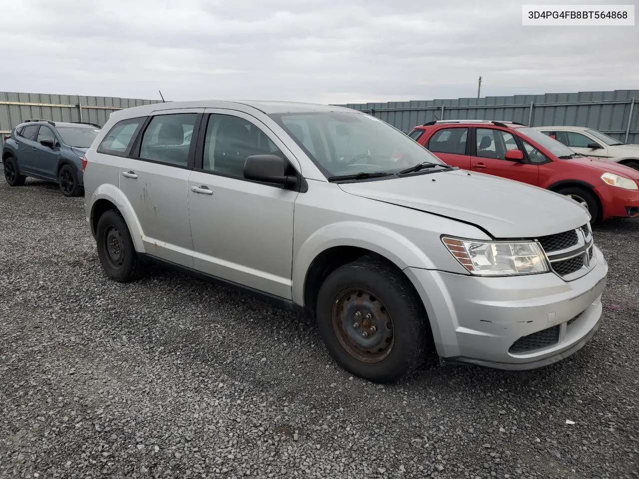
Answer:
[{"label": "front door of the red car, including its window", "polygon": [[528,162],[526,153],[524,153],[524,160],[521,162],[506,160],[506,151],[509,149],[524,151],[512,133],[488,127],[473,128],[473,133],[473,151],[470,161],[472,171],[537,186],[539,167]]}]

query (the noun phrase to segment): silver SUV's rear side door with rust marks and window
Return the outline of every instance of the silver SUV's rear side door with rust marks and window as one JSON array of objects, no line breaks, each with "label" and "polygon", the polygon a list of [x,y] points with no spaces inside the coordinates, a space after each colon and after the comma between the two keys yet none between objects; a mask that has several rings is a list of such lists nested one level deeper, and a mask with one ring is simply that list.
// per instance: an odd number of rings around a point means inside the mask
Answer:
[{"label": "silver SUV's rear side door with rust marks and window", "polygon": [[147,254],[193,267],[188,179],[195,146],[185,135],[197,125],[199,110],[161,110],[150,121],[120,168],[120,190],[142,228]]}]

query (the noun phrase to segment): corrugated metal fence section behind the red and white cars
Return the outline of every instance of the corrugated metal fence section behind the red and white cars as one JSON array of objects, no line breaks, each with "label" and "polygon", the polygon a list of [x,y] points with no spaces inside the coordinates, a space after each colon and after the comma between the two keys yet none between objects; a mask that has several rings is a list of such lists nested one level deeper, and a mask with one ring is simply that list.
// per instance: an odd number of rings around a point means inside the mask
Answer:
[{"label": "corrugated metal fence section behind the red and white cars", "polygon": [[348,103],[341,106],[372,113],[403,132],[410,132],[413,126],[435,119],[494,119],[519,121],[528,126],[587,126],[620,141],[626,141],[627,132],[627,142],[639,143],[639,104],[636,103],[639,103],[639,90]]}]

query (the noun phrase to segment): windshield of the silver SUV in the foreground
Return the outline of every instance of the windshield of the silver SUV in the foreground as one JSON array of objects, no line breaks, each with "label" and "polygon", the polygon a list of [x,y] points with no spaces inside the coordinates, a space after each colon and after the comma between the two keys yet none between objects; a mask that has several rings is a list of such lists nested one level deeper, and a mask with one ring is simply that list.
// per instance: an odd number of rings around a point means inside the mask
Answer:
[{"label": "windshield of the silver SUV in the foreground", "polygon": [[270,115],[314,160],[327,178],[366,172],[399,172],[419,163],[443,165],[403,132],[358,112]]}]

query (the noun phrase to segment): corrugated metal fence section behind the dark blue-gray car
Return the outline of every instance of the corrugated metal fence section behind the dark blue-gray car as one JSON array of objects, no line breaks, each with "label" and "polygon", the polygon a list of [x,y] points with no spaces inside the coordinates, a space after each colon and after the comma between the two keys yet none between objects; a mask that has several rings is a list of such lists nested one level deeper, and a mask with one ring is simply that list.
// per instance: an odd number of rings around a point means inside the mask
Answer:
[{"label": "corrugated metal fence section behind the dark blue-gray car", "polygon": [[[112,98],[107,96],[47,95],[0,91],[0,146],[4,133],[28,118],[53,121],[86,121],[104,125],[109,114],[123,108],[139,107],[159,100]],[[82,116],[82,118],[81,118]]]}]

